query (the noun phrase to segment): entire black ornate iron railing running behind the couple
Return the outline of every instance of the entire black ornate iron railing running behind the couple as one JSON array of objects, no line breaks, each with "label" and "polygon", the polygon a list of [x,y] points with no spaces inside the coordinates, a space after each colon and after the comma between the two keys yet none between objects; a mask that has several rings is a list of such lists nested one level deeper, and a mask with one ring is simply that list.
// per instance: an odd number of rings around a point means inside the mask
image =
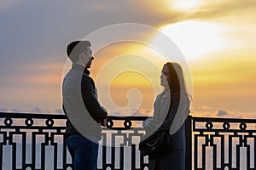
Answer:
[{"label": "entire black ornate iron railing running behind the couple", "polygon": [[[146,118],[108,117],[98,169],[147,169],[137,150]],[[65,122],[64,115],[0,113],[0,169],[72,169]],[[256,168],[256,120],[189,116],[185,123],[187,170]]]}]

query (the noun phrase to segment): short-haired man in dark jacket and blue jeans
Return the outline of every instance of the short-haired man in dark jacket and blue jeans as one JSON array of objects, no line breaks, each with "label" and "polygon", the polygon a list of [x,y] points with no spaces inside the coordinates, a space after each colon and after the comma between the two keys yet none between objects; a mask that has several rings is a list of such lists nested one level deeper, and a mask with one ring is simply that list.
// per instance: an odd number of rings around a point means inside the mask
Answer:
[{"label": "short-haired man in dark jacket and blue jeans", "polygon": [[63,111],[67,115],[66,142],[73,157],[75,170],[95,170],[98,141],[102,126],[107,123],[107,111],[99,104],[96,87],[89,77],[94,59],[89,41],[75,41],[67,45],[67,57],[73,62],[62,82]]}]

